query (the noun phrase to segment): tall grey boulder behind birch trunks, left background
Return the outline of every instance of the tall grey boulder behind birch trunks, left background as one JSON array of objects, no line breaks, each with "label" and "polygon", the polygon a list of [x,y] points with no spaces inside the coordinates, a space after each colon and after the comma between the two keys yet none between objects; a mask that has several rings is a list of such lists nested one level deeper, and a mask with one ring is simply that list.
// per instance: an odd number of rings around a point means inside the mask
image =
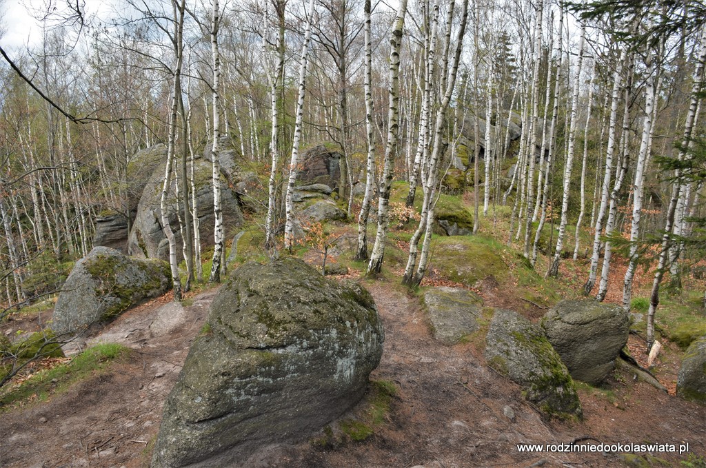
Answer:
[{"label": "tall grey boulder behind birch trunks, left background", "polygon": [[[194,185],[196,186],[196,203],[198,205],[198,221],[201,229],[201,246],[206,248],[213,245],[214,215],[213,215],[213,183],[212,164],[199,157],[194,162]],[[169,259],[169,242],[162,230],[162,210],[160,208],[164,184],[164,168],[157,168],[150,176],[145,186],[137,215],[128,239],[128,253],[141,258]],[[177,203],[176,180],[172,180],[171,195],[167,200],[167,217],[169,225],[177,239],[177,258],[182,258],[181,230],[177,210],[181,203]],[[235,193],[229,188],[225,177],[220,181],[221,203],[225,232],[228,235],[234,227],[243,222],[240,205]]]}]

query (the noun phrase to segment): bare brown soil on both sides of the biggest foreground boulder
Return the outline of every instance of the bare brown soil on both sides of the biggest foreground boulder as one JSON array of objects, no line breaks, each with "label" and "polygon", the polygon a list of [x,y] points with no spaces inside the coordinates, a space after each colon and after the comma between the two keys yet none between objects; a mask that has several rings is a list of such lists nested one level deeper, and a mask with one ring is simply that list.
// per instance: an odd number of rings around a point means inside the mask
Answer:
[{"label": "bare brown soil on both sides of the biggest foreground boulder", "polygon": [[[308,441],[266,450],[271,467],[622,466],[613,453],[520,453],[517,443],[674,443],[706,455],[706,408],[666,395],[623,373],[611,392],[580,390],[585,419],[546,421],[520,388],[484,365],[481,344],[438,344],[417,299],[396,285],[368,284],[385,326],[385,352],[371,378],[399,388],[388,421],[360,443],[317,448]],[[483,293],[488,306],[508,294]],[[164,297],[121,316],[99,339],[135,351],[49,402],[0,415],[4,467],[142,467],[150,459],[162,404],[201,328],[215,291],[182,308]],[[537,311],[539,313],[539,311]],[[535,315],[534,313],[530,315]],[[635,338],[633,337],[633,340]],[[90,343],[89,343],[90,344]],[[669,371],[678,366],[673,361]],[[511,420],[503,413],[510,407]],[[505,409],[507,412],[507,409]],[[684,456],[654,454],[678,464]],[[540,466],[536,464],[534,466]]]}]

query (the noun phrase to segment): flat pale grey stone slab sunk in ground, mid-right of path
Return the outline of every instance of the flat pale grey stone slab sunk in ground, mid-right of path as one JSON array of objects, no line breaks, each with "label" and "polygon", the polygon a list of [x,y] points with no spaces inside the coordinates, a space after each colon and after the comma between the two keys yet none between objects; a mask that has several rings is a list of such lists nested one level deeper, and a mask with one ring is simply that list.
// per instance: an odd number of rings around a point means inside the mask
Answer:
[{"label": "flat pale grey stone slab sunk in ground, mid-right of path", "polygon": [[468,289],[434,287],[424,293],[434,338],[443,344],[456,344],[478,330],[483,300]]}]

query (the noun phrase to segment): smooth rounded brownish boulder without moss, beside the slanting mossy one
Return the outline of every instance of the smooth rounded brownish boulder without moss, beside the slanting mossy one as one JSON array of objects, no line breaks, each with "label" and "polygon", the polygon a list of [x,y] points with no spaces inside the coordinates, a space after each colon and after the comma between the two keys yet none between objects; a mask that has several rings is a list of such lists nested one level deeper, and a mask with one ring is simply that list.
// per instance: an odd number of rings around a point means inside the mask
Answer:
[{"label": "smooth rounded brownish boulder without moss, beside the slanting mossy one", "polygon": [[630,316],[593,299],[561,301],[544,315],[542,327],[571,376],[598,385],[628,343]]}]

